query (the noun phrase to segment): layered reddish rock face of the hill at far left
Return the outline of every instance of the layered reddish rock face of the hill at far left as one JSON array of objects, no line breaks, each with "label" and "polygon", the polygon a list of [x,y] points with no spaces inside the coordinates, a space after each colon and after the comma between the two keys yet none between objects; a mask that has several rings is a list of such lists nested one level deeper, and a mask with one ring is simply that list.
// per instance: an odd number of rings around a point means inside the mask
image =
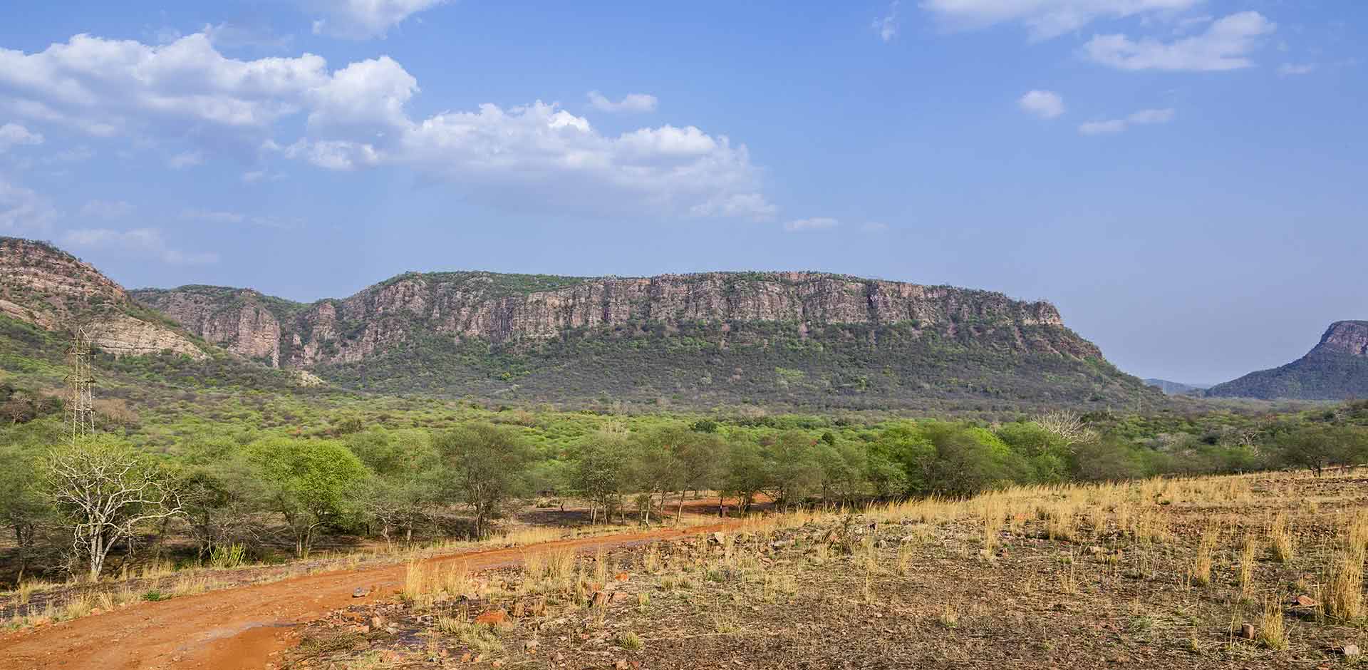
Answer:
[{"label": "layered reddish rock face of the hill at far left", "polygon": [[207,356],[183,331],[133,302],[122,286],[42,242],[0,238],[0,313],[49,331],[89,323],[92,345],[115,356]]}]

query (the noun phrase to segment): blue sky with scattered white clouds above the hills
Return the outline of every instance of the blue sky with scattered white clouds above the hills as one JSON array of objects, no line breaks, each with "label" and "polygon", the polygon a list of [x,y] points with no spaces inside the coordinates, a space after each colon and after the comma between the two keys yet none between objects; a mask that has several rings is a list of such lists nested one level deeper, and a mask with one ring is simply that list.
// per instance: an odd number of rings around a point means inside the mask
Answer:
[{"label": "blue sky with scattered white clouds above the hills", "polygon": [[126,286],[822,269],[1222,381],[1368,319],[1368,4],[0,8],[0,234]]}]

